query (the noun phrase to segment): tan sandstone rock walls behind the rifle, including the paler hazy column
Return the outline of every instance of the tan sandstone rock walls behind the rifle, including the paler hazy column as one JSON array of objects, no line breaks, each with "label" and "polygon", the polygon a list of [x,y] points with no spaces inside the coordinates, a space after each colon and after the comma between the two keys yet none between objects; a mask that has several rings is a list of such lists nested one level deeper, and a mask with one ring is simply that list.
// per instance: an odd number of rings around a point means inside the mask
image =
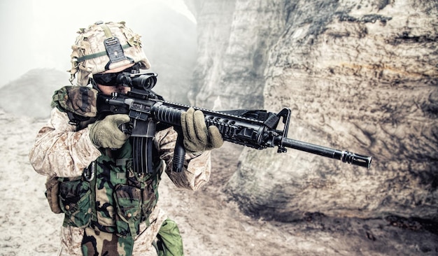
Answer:
[{"label": "tan sandstone rock walls behind the rifle, including the paler hazy column", "polygon": [[374,157],[367,170],[244,149],[226,186],[243,210],[284,221],[309,212],[438,220],[438,1],[221,3],[190,1],[202,78],[190,98],[289,107],[290,138]]}]

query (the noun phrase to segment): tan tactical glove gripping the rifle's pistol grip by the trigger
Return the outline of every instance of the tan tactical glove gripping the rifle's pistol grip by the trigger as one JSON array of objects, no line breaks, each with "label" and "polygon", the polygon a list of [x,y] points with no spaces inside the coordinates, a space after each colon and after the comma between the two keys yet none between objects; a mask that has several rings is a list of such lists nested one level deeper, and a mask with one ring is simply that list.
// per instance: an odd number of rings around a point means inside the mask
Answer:
[{"label": "tan tactical glove gripping the rifle's pistol grip by the trigger", "polygon": [[97,148],[122,148],[129,134],[120,131],[119,126],[129,122],[129,116],[123,114],[107,115],[103,120],[88,125],[90,138]]}]

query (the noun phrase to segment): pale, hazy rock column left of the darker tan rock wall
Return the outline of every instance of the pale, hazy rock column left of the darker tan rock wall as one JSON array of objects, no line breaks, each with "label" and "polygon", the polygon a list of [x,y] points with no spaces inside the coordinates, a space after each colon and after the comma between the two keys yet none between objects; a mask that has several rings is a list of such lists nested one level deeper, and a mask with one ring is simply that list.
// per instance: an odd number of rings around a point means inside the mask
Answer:
[{"label": "pale, hazy rock column left of the darker tan rock wall", "polygon": [[268,50],[283,30],[276,1],[186,2],[195,6],[199,31],[192,104],[262,108]]}]

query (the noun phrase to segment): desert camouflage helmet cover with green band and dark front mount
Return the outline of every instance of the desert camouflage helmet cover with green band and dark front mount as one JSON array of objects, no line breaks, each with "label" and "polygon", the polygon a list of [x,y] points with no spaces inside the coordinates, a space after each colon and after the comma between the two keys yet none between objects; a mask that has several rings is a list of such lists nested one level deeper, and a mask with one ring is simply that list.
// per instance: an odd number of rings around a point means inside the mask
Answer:
[{"label": "desert camouflage helmet cover with green band and dark front mount", "polygon": [[80,29],[78,34],[71,46],[71,82],[77,76],[78,85],[86,86],[93,74],[127,64],[139,63],[141,69],[150,68],[141,48],[141,36],[125,27],[125,22],[96,22],[88,29]]}]

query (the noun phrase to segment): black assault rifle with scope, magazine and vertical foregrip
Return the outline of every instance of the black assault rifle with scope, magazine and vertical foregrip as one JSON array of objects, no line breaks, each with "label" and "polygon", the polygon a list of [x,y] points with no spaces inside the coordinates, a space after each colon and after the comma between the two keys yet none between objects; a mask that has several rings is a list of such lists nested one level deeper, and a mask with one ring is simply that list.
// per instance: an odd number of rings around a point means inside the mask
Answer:
[{"label": "black assault rifle with scope, magazine and vertical foregrip", "polygon": [[[320,145],[296,141],[288,136],[290,109],[283,108],[278,113],[264,110],[233,110],[211,111],[204,108],[185,106],[183,104],[164,101],[155,94],[152,88],[157,83],[157,73],[120,73],[118,82],[131,87],[127,94],[113,93],[111,96],[98,94],[98,113],[128,114],[131,118],[128,126],[121,127],[122,131],[131,134],[133,140],[134,170],[148,173],[152,170],[152,140],[157,126],[173,126],[178,132],[174,150],[173,170],[183,169],[185,149],[181,131],[181,113],[188,108],[195,108],[204,113],[207,127],[218,127],[224,141],[255,149],[274,148],[277,152],[286,152],[286,148],[294,148],[323,157],[339,159],[348,164],[369,168],[372,157],[358,155],[345,150],[334,150]],[[278,129],[282,120],[283,129]]]}]

